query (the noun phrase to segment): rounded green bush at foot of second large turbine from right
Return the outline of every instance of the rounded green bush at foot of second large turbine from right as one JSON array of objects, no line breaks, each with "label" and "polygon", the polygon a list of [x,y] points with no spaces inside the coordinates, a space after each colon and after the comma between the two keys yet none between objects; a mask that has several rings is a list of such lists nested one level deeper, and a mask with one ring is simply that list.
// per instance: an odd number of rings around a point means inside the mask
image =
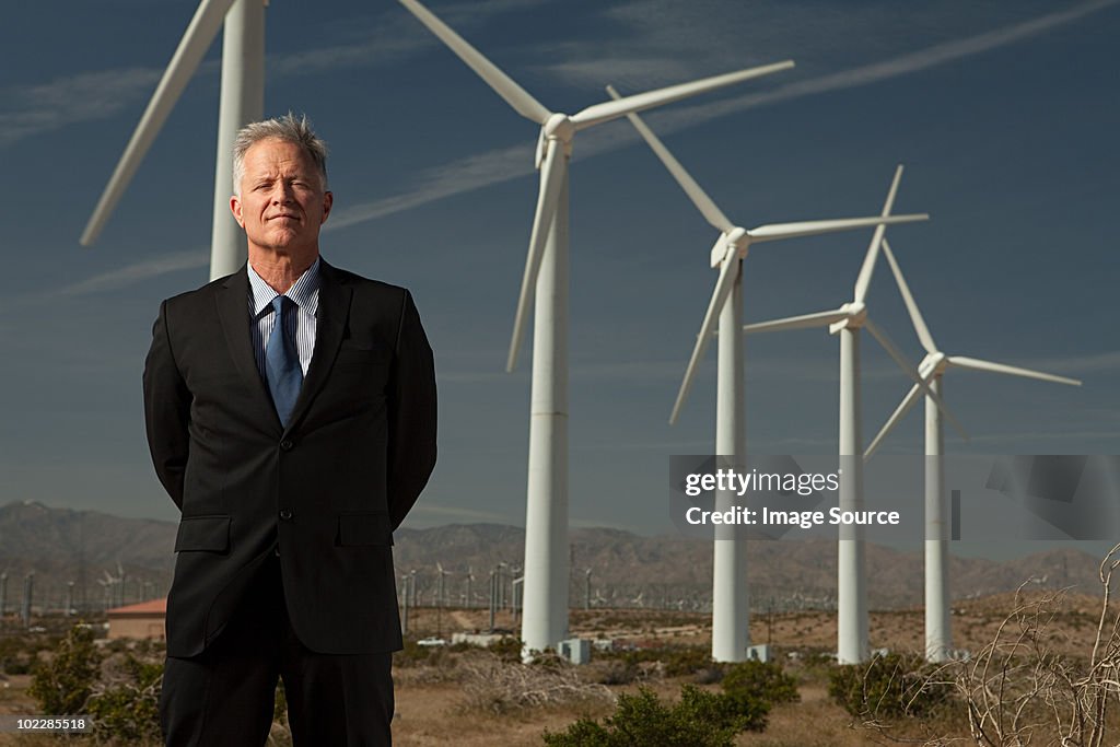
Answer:
[{"label": "rounded green bush at foot of second large turbine from right", "polygon": [[856,717],[925,716],[949,700],[949,683],[931,680],[921,656],[887,654],[833,670],[829,695]]}]

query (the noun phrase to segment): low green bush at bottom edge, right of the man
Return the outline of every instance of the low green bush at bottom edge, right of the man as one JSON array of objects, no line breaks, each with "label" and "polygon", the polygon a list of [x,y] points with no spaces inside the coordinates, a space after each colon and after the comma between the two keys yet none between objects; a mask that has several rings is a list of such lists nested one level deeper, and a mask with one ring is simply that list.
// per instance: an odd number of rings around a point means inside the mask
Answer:
[{"label": "low green bush at bottom edge, right of the man", "polygon": [[549,747],[731,747],[735,735],[766,728],[766,709],[745,716],[722,694],[693,685],[681,687],[674,706],[661,702],[656,693],[640,688],[637,694],[622,694],[614,715],[603,723],[582,718],[561,732],[544,732]]}]

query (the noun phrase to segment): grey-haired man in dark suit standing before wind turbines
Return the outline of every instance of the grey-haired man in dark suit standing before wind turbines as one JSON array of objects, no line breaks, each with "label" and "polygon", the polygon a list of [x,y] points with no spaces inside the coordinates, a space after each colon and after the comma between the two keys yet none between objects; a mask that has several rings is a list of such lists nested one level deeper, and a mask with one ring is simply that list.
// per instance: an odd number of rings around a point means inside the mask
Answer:
[{"label": "grey-haired man in dark suit standing before wind turbines", "polygon": [[244,128],[234,190],[249,263],[164,301],[144,366],[183,514],[165,738],[263,744],[282,678],[296,745],[388,745],[392,532],[436,461],[431,348],[407,290],[319,258],[332,194],[306,119]]}]

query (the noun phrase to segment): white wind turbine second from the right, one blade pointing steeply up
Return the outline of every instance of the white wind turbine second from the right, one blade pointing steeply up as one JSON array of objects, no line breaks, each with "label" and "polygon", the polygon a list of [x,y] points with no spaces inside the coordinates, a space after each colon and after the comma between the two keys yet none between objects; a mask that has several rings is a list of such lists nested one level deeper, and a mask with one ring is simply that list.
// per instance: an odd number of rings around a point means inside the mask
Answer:
[{"label": "white wind turbine second from the right, one blade pointing steeply up", "polygon": [[[890,183],[883,216],[890,215],[895,193],[902,179],[903,167],[895,170]],[[867,316],[867,290],[871,283],[875,261],[886,230],[880,225],[875,230],[871,244],[864,256],[851,302],[831,311],[806,314],[797,317],[746,325],[745,333],[780,332],[810,327],[829,327],[831,334],[840,335],[840,508],[860,511],[864,508],[864,447],[860,435],[860,385],[859,385],[859,330],[866,327],[871,336],[883,345],[898,366],[933,398],[941,407],[941,400],[921,382],[898,348]],[[720,343],[722,344],[722,335]],[[956,424],[949,413],[946,417]],[[841,664],[858,664],[867,659],[867,570],[864,548],[864,527],[841,526],[837,572],[837,656]]]}]

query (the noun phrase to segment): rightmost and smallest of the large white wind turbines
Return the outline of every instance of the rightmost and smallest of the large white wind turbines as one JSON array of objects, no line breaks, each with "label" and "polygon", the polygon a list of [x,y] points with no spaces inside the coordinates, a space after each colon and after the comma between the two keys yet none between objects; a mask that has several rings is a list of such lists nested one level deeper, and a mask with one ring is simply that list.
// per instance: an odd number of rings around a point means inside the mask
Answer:
[{"label": "rightmost and smallest of the large white wind turbines", "polygon": [[[1002,363],[980,361],[959,355],[945,355],[933,342],[930,328],[926,327],[922,312],[914,301],[906,278],[903,276],[898,261],[890,251],[890,245],[883,241],[883,253],[890,264],[890,271],[895,276],[895,282],[906,309],[909,311],[911,321],[917,333],[922,347],[926,355],[918,365],[918,374],[922,381],[928,385],[930,391],[943,395],[942,379],[945,372],[953,367],[971,368],[973,371],[989,371],[992,373],[1023,376],[1025,379],[1037,379],[1040,381],[1056,382],[1080,386],[1076,379],[1055,376],[1054,374],[1008,366]],[[869,458],[883,439],[886,438],[903,417],[909,412],[911,408],[922,395],[918,384],[914,384],[903,401],[895,409],[894,413],[879,430],[878,436],[867,447],[865,458]],[[931,401],[925,405],[925,655],[931,662],[943,662],[949,659],[952,650],[952,624],[949,618],[949,502],[945,499],[945,467],[941,456],[945,450],[944,428],[941,423],[941,411]],[[930,459],[928,457],[934,457]]]}]

